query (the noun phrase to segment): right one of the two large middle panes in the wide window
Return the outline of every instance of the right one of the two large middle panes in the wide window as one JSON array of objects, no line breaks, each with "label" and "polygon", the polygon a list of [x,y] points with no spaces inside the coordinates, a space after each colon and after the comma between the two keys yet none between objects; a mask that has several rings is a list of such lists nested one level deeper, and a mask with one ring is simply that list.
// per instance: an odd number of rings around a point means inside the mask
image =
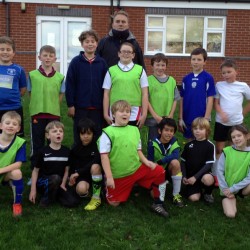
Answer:
[{"label": "right one of the two large middle panes in the wide window", "polygon": [[187,54],[195,48],[203,46],[204,19],[188,17],[186,24],[186,49]]}]

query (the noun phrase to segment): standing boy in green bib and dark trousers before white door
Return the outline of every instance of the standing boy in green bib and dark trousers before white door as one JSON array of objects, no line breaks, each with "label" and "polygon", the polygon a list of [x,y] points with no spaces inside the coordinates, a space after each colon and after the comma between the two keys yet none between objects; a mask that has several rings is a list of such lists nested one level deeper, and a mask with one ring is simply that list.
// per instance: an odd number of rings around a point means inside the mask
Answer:
[{"label": "standing boy in green bib and dark trousers before white door", "polygon": [[45,127],[51,121],[60,120],[60,103],[65,92],[64,76],[53,67],[56,62],[55,48],[42,46],[38,58],[41,65],[29,73],[28,81],[32,169],[36,154],[45,145]]}]

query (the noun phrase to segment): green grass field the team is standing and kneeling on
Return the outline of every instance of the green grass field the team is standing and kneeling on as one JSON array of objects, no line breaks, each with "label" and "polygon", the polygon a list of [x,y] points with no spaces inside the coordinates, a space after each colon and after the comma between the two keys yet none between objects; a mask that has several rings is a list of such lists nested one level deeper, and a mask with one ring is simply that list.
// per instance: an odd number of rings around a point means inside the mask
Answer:
[{"label": "green grass field the team is standing and kneeling on", "polygon": [[[27,155],[30,133],[28,98],[23,100]],[[72,144],[72,121],[62,105],[66,126],[64,144]],[[250,124],[249,117],[246,122]],[[183,140],[179,134],[180,144]],[[22,167],[25,183],[30,176],[29,162]],[[237,201],[238,215],[228,219],[223,215],[218,190],[214,191],[212,206],[203,201],[184,208],[174,207],[166,198],[170,218],[165,219],[150,211],[151,198],[147,190],[139,197],[131,195],[127,203],[113,208],[103,203],[96,211],[83,209],[88,199],[74,209],[55,204],[47,209],[28,201],[29,186],[23,195],[23,216],[12,218],[12,192],[1,187],[0,193],[0,249],[250,249],[250,198]],[[171,188],[167,192],[170,196]]]}]

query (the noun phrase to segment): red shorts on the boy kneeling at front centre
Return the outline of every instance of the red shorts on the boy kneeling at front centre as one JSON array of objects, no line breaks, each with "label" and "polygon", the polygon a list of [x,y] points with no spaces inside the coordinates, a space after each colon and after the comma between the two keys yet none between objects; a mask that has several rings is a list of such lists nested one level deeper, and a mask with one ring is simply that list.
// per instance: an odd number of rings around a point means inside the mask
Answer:
[{"label": "red shorts on the boy kneeling at front centre", "polygon": [[150,189],[152,185],[159,185],[165,181],[165,170],[162,166],[157,165],[154,170],[151,170],[146,165],[142,164],[135,173],[114,179],[115,189],[107,187],[106,198],[109,202],[125,202],[134,184]]}]

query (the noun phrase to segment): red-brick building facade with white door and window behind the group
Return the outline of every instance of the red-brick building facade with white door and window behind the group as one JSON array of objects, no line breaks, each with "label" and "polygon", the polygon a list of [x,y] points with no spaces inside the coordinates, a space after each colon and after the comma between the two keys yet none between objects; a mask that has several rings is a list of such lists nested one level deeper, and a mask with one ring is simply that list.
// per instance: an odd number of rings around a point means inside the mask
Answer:
[{"label": "red-brick building facade with white door and window behind the group", "polygon": [[238,79],[250,83],[250,1],[2,0],[0,35],[15,40],[15,62],[26,72],[38,67],[39,48],[50,44],[57,50],[57,69],[66,74],[70,60],[81,50],[80,32],[93,28],[103,37],[119,9],[129,13],[148,74],[151,56],[162,52],[169,58],[168,73],[181,83],[191,71],[191,50],[201,46],[209,55],[206,70],[216,81],[221,80],[221,62],[233,58],[239,66]]}]

